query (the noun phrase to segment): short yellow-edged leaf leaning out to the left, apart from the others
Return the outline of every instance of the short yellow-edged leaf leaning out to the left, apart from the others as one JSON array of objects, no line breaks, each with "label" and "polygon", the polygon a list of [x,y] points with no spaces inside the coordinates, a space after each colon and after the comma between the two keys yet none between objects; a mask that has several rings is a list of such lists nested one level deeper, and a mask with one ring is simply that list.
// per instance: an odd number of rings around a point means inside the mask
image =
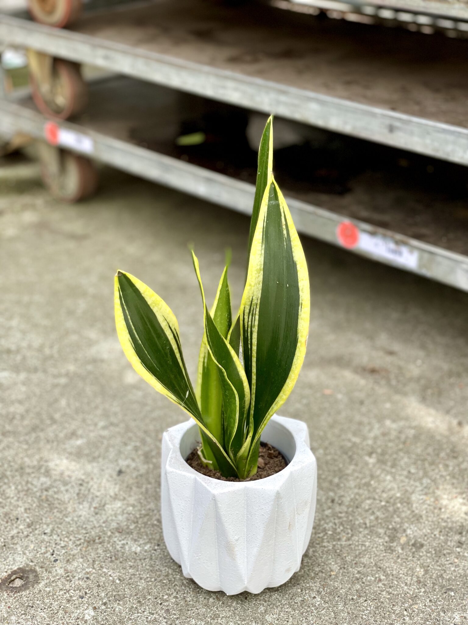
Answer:
[{"label": "short yellow-edged leaf leaning out to the left, apart from the others", "polygon": [[167,304],[131,274],[115,276],[115,325],[125,356],[158,392],[195,419],[207,435],[220,471],[236,469],[203,420],[182,355],[177,319]]}]

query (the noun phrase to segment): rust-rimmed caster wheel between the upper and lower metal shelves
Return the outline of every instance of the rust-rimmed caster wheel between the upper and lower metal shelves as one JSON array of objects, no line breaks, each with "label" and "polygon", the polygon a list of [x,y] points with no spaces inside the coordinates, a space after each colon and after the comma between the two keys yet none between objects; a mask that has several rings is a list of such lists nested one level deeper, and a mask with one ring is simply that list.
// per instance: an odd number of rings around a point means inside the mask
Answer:
[{"label": "rust-rimmed caster wheel between the upper and lower metal shelves", "polygon": [[50,83],[41,84],[34,73],[30,79],[34,103],[46,117],[69,119],[85,109],[88,87],[76,63],[55,59]]}]

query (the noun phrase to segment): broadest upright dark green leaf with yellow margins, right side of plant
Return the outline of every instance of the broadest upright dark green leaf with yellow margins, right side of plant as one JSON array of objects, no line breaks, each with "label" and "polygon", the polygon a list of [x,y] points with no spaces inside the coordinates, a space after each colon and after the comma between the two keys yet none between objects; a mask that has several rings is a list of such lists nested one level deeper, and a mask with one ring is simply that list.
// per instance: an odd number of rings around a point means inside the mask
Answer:
[{"label": "broadest upright dark green leaf with yellow margins, right side of plant", "polygon": [[309,312],[305,255],[283,194],[271,175],[258,214],[240,306],[253,425],[248,464],[253,462],[254,471],[261,431],[286,401],[301,369]]}]

